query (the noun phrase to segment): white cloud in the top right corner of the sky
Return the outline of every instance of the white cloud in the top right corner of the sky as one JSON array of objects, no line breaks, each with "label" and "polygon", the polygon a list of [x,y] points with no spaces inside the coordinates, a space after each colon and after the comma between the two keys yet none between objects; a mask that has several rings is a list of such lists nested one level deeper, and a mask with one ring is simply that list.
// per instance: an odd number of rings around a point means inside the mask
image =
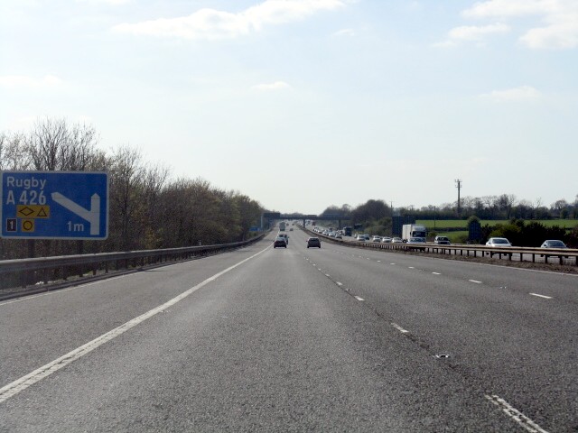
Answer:
[{"label": "white cloud in the top right corner of the sky", "polygon": [[541,17],[544,26],[529,29],[519,41],[532,49],[578,47],[578,2],[576,0],[489,0],[463,11],[466,18]]}]

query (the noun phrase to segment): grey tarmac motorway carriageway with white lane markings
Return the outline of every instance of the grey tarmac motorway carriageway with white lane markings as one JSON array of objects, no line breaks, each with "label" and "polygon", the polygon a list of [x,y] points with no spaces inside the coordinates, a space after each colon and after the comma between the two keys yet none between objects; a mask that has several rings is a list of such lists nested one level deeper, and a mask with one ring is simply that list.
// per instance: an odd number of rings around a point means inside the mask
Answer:
[{"label": "grey tarmac motorway carriageway with white lane markings", "polygon": [[0,303],[0,431],[578,431],[578,277],[322,243]]}]

